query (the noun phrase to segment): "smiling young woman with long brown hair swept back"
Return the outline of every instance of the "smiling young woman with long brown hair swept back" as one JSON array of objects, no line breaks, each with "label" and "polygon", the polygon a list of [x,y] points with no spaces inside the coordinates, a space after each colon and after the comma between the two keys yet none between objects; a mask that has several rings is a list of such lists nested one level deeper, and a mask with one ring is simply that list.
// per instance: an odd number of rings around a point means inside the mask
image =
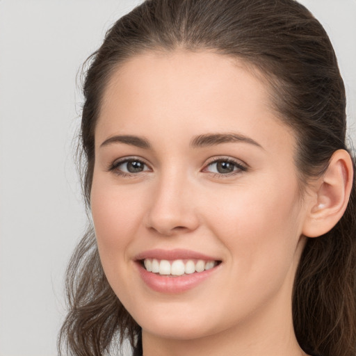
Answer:
[{"label": "smiling young woman with long brown hair swept back", "polygon": [[90,58],[71,355],[355,355],[345,92],[293,0],[151,0]]}]

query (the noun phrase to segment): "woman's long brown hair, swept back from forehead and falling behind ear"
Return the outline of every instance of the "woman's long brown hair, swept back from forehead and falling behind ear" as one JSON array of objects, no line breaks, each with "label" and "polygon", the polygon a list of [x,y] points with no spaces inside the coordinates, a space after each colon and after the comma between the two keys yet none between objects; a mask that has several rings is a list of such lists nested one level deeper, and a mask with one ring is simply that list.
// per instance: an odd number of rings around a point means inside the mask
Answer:
[{"label": "woman's long brown hair, swept back from forehead and falling behind ear", "polygon": [[[263,74],[281,120],[296,133],[300,180],[322,175],[346,148],[346,96],[332,44],[294,0],[147,0],[124,15],[90,56],[81,122],[83,194],[90,209],[94,133],[104,89],[120,65],[145,51],[211,50]],[[293,291],[293,323],[306,353],[356,354],[355,182],[346,213],[309,238]],[[129,338],[140,355],[140,327],[109,286],[92,227],[67,268],[69,314],[58,348],[66,355],[114,355]]]}]

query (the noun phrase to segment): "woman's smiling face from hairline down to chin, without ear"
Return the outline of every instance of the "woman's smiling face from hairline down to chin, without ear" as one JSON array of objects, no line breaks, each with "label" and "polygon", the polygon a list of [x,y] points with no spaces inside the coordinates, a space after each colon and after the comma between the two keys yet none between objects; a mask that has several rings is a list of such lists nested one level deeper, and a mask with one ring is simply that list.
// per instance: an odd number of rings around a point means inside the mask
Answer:
[{"label": "woman's smiling face from hairline down to chin, without ear", "polygon": [[95,131],[104,271],[147,334],[194,339],[289,318],[307,205],[268,88],[209,52],[113,74]]}]

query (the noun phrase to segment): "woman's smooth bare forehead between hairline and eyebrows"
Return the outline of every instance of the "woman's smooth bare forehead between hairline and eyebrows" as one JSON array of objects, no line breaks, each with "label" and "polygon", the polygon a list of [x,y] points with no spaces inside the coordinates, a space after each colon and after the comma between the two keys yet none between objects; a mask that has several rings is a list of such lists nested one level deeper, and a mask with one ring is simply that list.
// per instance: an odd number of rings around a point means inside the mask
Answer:
[{"label": "woman's smooth bare forehead between hairline and eyebrows", "polygon": [[113,73],[96,136],[145,136],[154,127],[165,136],[237,129],[273,140],[276,127],[293,136],[273,111],[266,81],[245,63],[210,51],[145,53]]}]

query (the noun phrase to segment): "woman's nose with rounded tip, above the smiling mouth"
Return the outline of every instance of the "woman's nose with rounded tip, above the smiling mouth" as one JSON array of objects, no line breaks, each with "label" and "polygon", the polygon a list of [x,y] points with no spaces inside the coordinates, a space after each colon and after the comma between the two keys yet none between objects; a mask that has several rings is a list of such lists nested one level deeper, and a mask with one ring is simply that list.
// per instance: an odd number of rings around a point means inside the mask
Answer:
[{"label": "woman's nose with rounded tip, above the smiling mouth", "polygon": [[156,181],[147,211],[147,227],[163,236],[193,232],[199,226],[193,188],[172,174]]}]

